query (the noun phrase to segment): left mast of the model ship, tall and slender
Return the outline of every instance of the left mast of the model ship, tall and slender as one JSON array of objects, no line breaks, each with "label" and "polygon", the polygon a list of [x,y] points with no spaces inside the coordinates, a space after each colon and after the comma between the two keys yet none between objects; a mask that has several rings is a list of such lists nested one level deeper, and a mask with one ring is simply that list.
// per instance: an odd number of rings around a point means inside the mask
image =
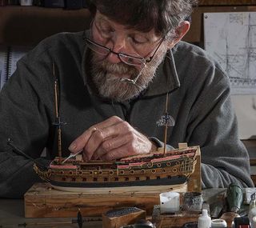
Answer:
[{"label": "left mast of the model ship, tall and slender", "polygon": [[58,127],[58,163],[61,164],[62,162],[62,125],[66,124],[66,122],[61,122],[61,118],[58,112],[58,78],[55,75],[55,64],[53,63],[53,70],[54,70],[54,104],[55,104],[55,118],[56,121],[54,125]]}]

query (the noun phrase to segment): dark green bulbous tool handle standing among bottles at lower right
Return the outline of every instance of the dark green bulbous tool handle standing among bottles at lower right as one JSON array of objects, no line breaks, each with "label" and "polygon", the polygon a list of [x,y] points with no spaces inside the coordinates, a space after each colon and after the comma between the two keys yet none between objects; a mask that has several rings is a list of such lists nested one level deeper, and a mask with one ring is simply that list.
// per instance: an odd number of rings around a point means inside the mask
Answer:
[{"label": "dark green bulbous tool handle standing among bottles at lower right", "polygon": [[238,213],[242,205],[242,197],[242,188],[234,183],[230,184],[226,190],[226,199],[230,211]]}]

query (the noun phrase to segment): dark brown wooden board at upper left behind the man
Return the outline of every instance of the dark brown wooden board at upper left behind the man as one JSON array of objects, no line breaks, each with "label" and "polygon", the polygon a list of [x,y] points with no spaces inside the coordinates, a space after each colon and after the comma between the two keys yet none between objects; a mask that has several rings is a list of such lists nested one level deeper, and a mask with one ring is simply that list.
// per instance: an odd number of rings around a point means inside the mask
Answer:
[{"label": "dark brown wooden board at upper left behind the man", "polygon": [[80,31],[89,26],[90,12],[87,9],[0,7],[0,44],[33,46],[51,34]]}]

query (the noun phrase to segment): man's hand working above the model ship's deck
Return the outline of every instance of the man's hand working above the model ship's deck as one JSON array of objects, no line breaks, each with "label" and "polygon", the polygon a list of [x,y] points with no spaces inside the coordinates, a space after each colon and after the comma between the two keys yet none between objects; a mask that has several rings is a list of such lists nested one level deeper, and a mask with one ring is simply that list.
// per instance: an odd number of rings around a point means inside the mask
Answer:
[{"label": "man's hand working above the model ship's deck", "polygon": [[134,154],[150,153],[155,146],[145,135],[135,130],[117,116],[91,126],[71,143],[69,150],[83,150],[85,161],[101,159],[110,161]]}]

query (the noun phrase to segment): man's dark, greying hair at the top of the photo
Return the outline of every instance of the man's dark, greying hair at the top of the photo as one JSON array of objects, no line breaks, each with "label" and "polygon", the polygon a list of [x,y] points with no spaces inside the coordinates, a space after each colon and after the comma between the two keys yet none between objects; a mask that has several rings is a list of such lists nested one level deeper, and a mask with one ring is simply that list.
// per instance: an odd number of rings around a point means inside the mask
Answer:
[{"label": "man's dark, greying hair at the top of the photo", "polygon": [[198,0],[89,0],[90,12],[96,10],[128,28],[166,37],[175,35],[181,22],[190,20]]}]

